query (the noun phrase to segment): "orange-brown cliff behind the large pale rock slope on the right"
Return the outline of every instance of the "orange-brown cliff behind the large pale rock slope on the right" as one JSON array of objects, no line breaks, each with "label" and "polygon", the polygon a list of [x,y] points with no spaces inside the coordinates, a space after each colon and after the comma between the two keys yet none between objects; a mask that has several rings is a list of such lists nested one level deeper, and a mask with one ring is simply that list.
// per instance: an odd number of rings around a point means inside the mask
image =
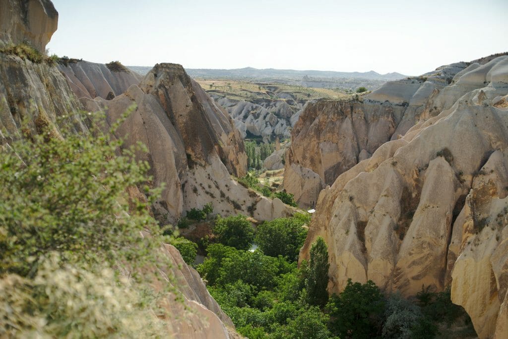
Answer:
[{"label": "orange-brown cliff behind the large pale rock slope on the right", "polygon": [[[300,207],[312,207],[321,189],[339,175],[370,157],[379,146],[404,135],[416,122],[449,109],[472,90],[448,85],[475,65],[479,64],[458,62],[417,78],[391,81],[360,100],[309,102],[291,133],[284,188],[295,195]],[[314,180],[315,185],[309,185],[301,177],[309,171],[319,175],[321,182]]]}]

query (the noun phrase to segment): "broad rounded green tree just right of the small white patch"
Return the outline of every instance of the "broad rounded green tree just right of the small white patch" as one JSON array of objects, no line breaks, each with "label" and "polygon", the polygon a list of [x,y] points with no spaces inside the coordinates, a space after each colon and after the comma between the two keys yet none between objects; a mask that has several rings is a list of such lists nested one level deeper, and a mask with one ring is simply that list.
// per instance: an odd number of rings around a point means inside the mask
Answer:
[{"label": "broad rounded green tree just right of the small white patch", "polygon": [[258,226],[254,242],[266,255],[281,255],[295,261],[307,236],[307,230],[302,225],[299,218],[266,221]]}]

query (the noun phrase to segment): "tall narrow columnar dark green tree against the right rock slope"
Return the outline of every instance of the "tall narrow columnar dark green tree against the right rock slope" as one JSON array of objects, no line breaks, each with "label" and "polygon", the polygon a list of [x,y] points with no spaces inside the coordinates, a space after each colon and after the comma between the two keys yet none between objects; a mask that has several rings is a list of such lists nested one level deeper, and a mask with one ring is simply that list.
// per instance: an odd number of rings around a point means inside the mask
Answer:
[{"label": "tall narrow columnar dark green tree against the right rock slope", "polygon": [[319,236],[310,248],[309,268],[305,280],[307,302],[311,305],[325,306],[328,301],[328,247]]}]

